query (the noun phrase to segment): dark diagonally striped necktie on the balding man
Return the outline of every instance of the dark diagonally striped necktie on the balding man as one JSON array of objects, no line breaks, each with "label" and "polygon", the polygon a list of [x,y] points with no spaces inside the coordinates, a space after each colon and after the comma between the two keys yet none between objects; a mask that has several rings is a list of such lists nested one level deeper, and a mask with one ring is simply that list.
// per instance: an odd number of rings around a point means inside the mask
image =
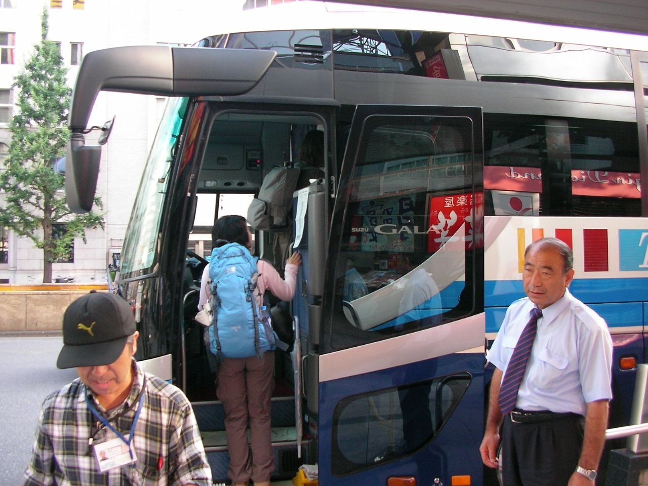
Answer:
[{"label": "dark diagonally striped necktie on the balding man", "polygon": [[522,376],[526,364],[531,356],[531,348],[535,340],[535,331],[537,330],[538,319],[542,317],[542,311],[537,307],[531,310],[531,318],[522,330],[518,343],[515,345],[513,355],[509,365],[506,367],[506,373],[500,386],[500,395],[498,397],[498,404],[502,415],[506,415],[509,411],[515,408],[515,402],[518,400],[518,389],[522,383]]}]

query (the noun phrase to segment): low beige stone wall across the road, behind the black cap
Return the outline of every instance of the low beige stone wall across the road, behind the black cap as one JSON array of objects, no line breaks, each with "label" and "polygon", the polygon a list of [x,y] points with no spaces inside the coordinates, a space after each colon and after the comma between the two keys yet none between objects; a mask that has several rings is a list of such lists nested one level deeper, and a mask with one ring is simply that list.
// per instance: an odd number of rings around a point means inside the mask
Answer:
[{"label": "low beige stone wall across the road, behind the black cap", "polygon": [[[0,332],[60,331],[65,308],[91,288],[106,286],[69,286],[65,290],[8,290],[0,285]],[[75,287],[75,288],[72,288]],[[86,288],[87,287],[87,288]]]}]

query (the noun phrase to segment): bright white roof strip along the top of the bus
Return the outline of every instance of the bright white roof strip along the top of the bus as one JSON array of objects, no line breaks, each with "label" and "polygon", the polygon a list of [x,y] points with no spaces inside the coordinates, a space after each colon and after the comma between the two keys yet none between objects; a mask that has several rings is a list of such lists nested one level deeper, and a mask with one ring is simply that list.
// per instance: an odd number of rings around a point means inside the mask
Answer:
[{"label": "bright white roof strip along the top of the bus", "polygon": [[311,29],[461,32],[648,51],[648,36],[642,34],[312,0],[244,10],[227,18],[227,31],[214,34]]}]

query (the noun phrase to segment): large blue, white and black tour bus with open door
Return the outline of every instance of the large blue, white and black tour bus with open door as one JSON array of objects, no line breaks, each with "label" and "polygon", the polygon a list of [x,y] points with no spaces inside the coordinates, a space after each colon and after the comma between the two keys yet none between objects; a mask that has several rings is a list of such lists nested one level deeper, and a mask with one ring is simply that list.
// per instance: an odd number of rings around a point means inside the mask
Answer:
[{"label": "large blue, white and black tour bus with open door", "polygon": [[246,215],[273,168],[299,167],[311,130],[321,174],[295,187],[288,222],[252,228],[280,271],[291,249],[303,261],[295,345],[276,353],[273,478],[309,464],[327,486],[496,483],[478,452],[485,354],[543,236],[573,248],[570,290],[607,321],[610,426],[628,424],[648,319],[647,51],[632,34],[299,1],[194,47],[87,54],[65,161],[74,211],[95,193],[98,91],[169,97],[114,284],[139,362],[192,400],[214,480],[223,411],[194,321],[211,225],[226,200]]}]

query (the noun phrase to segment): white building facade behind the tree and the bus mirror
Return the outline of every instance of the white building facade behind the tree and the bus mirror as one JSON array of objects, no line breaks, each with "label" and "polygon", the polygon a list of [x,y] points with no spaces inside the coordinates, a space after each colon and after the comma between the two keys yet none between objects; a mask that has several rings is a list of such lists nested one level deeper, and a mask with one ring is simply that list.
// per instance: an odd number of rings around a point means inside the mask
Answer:
[{"label": "white building facade behind the tree and the bus mirror", "polygon": [[[191,45],[226,22],[227,12],[242,6],[233,0],[0,0],[0,161],[7,155],[8,122],[16,110],[12,84],[40,42],[43,8],[49,11],[48,38],[60,43],[73,86],[87,52],[122,45]],[[85,244],[76,238],[72,261],[52,265],[53,281],[106,283],[106,268],[121,251],[165,102],[166,98],[123,93],[97,97],[89,126],[100,126],[115,115],[97,184],[104,203],[104,229],[88,229]],[[88,145],[96,137],[94,132],[88,135]],[[42,275],[43,252],[29,238],[0,229],[0,283],[41,283]]]}]

